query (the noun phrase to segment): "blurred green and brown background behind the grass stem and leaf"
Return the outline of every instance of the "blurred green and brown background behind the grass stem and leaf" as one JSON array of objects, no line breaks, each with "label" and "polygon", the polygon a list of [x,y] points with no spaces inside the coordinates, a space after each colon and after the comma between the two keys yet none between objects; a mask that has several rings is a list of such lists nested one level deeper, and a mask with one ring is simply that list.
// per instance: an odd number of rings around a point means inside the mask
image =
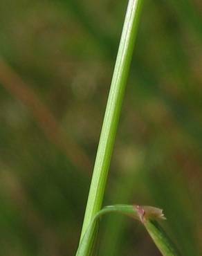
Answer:
[{"label": "blurred green and brown background behind the grass stem and leaf", "polygon": [[[0,255],[77,248],[127,1],[0,3]],[[202,2],[145,0],[104,205],[163,208],[202,255]],[[95,255],[160,255],[143,227],[100,223]]]}]

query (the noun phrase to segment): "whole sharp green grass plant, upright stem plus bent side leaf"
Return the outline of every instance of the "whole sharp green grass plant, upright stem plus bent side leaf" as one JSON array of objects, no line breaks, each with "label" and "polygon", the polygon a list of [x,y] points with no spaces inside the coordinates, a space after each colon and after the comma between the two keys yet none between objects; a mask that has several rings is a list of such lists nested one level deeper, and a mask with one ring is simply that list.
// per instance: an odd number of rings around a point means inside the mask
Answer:
[{"label": "whole sharp green grass plant, upright stem plus bent side leaf", "polygon": [[142,4],[143,0],[129,0],[107,108],[104,115],[100,143],[95,159],[89,199],[86,205],[77,256],[91,255],[95,240],[96,221],[102,214],[108,212],[121,212],[122,214],[129,214],[135,219],[140,220],[163,255],[178,255],[163,230],[160,229],[155,221],[152,221],[152,219],[163,217],[162,211],[158,208],[152,208],[150,206],[134,207],[133,205],[112,205],[100,210],[102,207],[102,199],[118,127],[122,100],[125,93],[129,66],[131,64],[134,42],[137,35]]}]

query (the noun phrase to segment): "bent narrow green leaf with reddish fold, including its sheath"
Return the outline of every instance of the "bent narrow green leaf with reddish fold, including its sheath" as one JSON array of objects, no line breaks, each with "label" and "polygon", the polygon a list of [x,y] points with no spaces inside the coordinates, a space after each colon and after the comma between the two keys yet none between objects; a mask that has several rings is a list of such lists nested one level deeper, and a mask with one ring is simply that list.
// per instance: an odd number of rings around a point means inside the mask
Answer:
[{"label": "bent narrow green leaf with reddish fold, including its sheath", "polygon": [[100,210],[89,224],[84,236],[80,242],[76,256],[89,256],[92,253],[92,237],[95,233],[95,227],[98,219],[107,213],[118,212],[132,217],[145,226],[154,243],[163,254],[163,256],[179,256],[178,250],[172,241],[167,237],[156,220],[165,219],[163,211],[152,206],[140,205],[110,205]]}]

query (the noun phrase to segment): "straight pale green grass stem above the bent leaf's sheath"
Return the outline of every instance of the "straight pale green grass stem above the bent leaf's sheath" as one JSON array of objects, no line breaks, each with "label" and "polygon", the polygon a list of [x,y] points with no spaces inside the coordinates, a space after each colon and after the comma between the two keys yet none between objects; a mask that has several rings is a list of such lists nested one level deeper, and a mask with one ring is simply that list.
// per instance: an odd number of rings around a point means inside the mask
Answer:
[{"label": "straight pale green grass stem above the bent leaf's sheath", "polygon": [[102,206],[114,138],[116,136],[120,110],[122,107],[122,99],[125,93],[142,3],[143,0],[129,0],[125,24],[123,26],[120,46],[118,49],[118,56],[113,72],[107,109],[104,115],[100,143],[95,159],[80,241],[84,236],[89,223]]}]

